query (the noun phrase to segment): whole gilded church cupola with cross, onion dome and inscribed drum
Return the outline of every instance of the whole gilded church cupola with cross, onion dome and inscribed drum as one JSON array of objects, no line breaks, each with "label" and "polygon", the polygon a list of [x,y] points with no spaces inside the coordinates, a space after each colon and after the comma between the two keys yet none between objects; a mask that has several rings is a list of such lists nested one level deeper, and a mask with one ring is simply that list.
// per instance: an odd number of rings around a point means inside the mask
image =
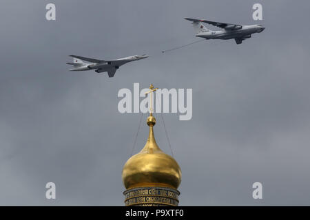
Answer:
[{"label": "whole gilded church cupola with cross, onion dome and inscribed drum", "polygon": [[[156,89],[153,85],[149,89],[152,99],[152,92]],[[156,119],[152,105],[149,110],[147,142],[123,167],[122,178],[127,189],[124,192],[125,206],[178,206],[180,192],[176,189],[181,181],[180,166],[156,144],[153,131]]]}]

